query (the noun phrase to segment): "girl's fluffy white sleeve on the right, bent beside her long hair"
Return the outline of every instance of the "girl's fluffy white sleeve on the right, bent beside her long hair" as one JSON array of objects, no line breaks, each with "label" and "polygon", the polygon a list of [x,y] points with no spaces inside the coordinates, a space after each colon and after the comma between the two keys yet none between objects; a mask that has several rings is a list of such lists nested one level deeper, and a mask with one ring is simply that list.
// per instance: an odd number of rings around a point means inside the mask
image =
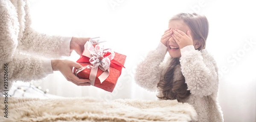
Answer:
[{"label": "girl's fluffy white sleeve on the right, bent beside her long hair", "polygon": [[181,72],[191,94],[202,97],[217,92],[218,75],[213,58],[209,54],[203,57],[202,52],[195,50],[192,45],[185,46],[180,51]]}]

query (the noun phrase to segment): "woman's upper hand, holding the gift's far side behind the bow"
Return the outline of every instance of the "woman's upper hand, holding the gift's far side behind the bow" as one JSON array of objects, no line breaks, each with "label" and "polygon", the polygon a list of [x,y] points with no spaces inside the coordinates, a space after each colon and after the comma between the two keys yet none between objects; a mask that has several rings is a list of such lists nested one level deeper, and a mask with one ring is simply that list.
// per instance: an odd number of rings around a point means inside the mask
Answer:
[{"label": "woman's upper hand, holding the gift's far side behind the bow", "polygon": [[72,37],[70,41],[70,50],[75,50],[78,55],[81,55],[84,51],[84,44],[89,41],[90,38],[76,38]]}]

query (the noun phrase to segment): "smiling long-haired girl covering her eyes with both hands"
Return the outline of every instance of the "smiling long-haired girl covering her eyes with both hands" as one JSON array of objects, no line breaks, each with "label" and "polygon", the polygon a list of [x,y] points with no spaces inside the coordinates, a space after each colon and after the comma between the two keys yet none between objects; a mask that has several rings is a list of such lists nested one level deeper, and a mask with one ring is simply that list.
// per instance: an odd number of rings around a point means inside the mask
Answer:
[{"label": "smiling long-haired girl covering her eyes with both hands", "polygon": [[[180,13],[169,20],[158,47],[137,66],[135,81],[158,91],[159,99],[191,104],[199,122],[223,122],[218,105],[218,68],[205,49],[208,20],[198,14]],[[169,52],[170,57],[165,55]]]}]

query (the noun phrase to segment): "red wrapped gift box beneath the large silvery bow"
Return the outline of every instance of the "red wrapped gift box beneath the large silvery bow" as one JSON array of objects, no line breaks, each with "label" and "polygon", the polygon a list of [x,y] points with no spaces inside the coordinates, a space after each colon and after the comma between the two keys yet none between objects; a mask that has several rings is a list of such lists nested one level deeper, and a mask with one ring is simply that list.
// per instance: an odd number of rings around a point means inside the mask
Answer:
[{"label": "red wrapped gift box beneath the large silvery bow", "polygon": [[[84,52],[85,51],[89,52],[86,49],[86,47],[84,49]],[[92,66],[92,64],[90,63],[91,56],[86,56],[83,54],[80,56],[80,58],[76,62],[81,64],[82,66]],[[95,87],[99,87],[103,90],[112,92],[116,86],[116,82],[117,82],[119,76],[122,73],[122,68],[124,67],[123,65],[125,64],[125,59],[126,59],[126,55],[122,55],[117,52],[114,52],[114,57],[110,61],[110,66],[107,71],[103,71],[101,68],[97,68],[97,67],[96,67],[97,70],[95,68],[93,68],[93,69],[85,68],[84,70],[82,70],[76,74],[76,68],[74,68],[74,73],[79,78],[90,79],[91,85],[93,85]],[[92,71],[92,70],[94,70],[94,71]],[[94,80],[93,76],[90,76],[92,74],[92,72],[96,72],[96,74],[94,74],[94,75],[96,75],[96,77],[94,76],[95,80]],[[101,82],[99,77],[104,72],[109,72],[109,75],[104,81]]]}]

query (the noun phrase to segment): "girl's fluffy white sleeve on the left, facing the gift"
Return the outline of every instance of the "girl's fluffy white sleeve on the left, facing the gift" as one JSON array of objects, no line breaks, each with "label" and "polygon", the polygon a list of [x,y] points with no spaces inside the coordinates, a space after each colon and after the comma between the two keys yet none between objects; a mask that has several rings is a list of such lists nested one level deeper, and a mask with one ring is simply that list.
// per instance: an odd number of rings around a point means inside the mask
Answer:
[{"label": "girl's fluffy white sleeve on the left, facing the gift", "polygon": [[162,67],[160,64],[166,55],[167,47],[160,43],[157,49],[148,52],[144,61],[137,65],[135,82],[140,87],[149,91],[157,90],[157,83],[160,81]]}]

